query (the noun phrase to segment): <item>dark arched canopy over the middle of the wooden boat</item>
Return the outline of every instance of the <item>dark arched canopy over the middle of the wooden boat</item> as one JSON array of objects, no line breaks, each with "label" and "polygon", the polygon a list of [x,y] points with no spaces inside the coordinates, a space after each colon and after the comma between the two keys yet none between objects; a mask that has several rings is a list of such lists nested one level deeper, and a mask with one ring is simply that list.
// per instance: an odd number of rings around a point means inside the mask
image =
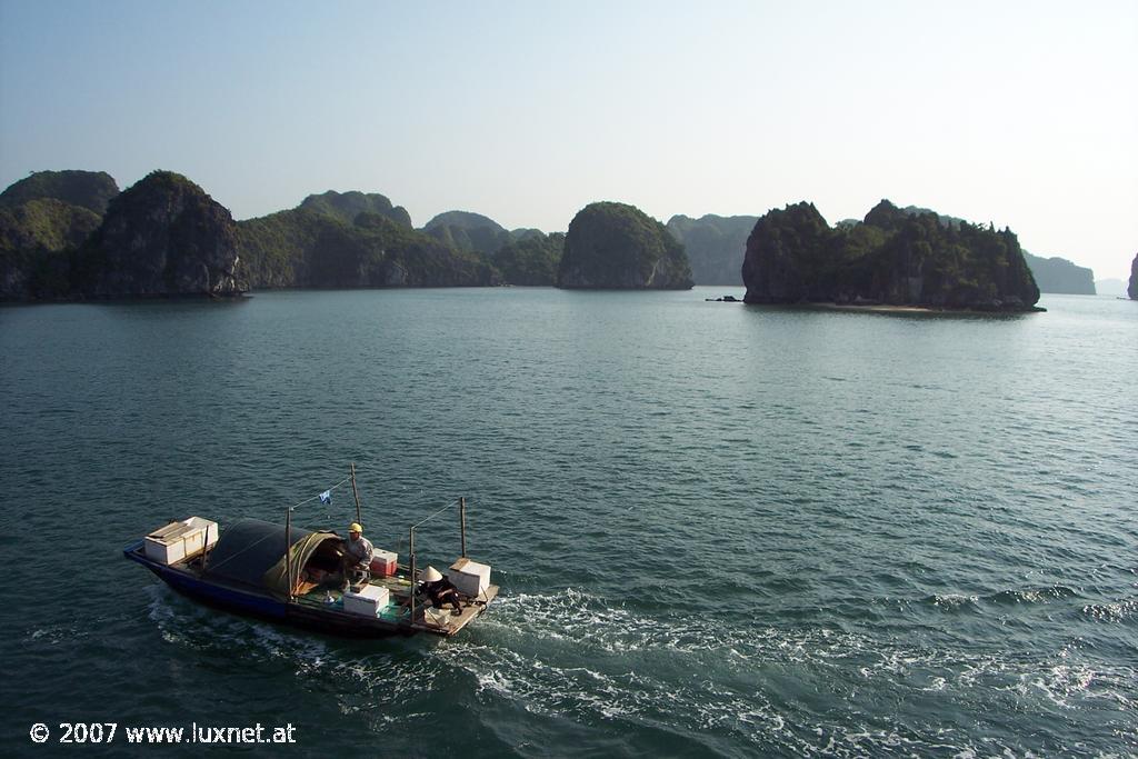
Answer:
[{"label": "dark arched canopy over the middle of the wooden boat", "polygon": [[[308,560],[312,552],[323,541],[339,541],[332,533],[313,533],[312,530],[291,528],[289,546],[292,554],[294,576]],[[298,545],[299,544],[299,545]],[[265,577],[274,566],[284,559],[284,526],[259,519],[242,519],[231,525],[217,544],[209,552],[206,562],[206,577],[229,583],[240,583],[257,589],[269,591],[275,595],[288,593],[283,572],[275,587],[278,578],[267,581]]]}]

